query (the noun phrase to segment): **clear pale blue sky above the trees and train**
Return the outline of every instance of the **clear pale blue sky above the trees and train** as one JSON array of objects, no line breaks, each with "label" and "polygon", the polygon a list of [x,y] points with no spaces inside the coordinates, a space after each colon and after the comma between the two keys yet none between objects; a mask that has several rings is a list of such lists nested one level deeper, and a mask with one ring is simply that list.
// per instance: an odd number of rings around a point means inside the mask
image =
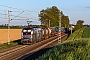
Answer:
[{"label": "clear pale blue sky above the trees and train", "polygon": [[[8,10],[10,10],[10,25],[40,25],[38,14],[42,9],[56,6],[64,15],[69,16],[70,23],[76,24],[84,20],[90,24],[90,0],[0,0],[0,25],[8,24]],[[18,20],[17,20],[18,19]]]}]

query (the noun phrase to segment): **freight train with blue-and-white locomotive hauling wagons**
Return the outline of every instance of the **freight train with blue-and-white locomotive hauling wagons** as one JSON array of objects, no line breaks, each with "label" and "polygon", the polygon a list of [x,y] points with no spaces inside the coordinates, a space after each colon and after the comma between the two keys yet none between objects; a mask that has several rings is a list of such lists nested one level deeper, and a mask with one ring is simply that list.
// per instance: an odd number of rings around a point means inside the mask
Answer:
[{"label": "freight train with blue-and-white locomotive hauling wagons", "polygon": [[37,28],[37,27],[26,27],[22,29],[21,44],[33,44],[50,37],[61,34],[65,34],[69,31],[69,28],[62,27],[50,27],[50,28]]}]

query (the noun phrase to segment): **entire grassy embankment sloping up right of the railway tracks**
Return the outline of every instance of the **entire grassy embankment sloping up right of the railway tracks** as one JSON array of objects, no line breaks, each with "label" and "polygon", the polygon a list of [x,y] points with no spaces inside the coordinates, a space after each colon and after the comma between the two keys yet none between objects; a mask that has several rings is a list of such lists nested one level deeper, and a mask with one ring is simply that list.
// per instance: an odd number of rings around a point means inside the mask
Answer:
[{"label": "entire grassy embankment sloping up right of the railway tracks", "polygon": [[75,31],[38,60],[90,60],[90,27]]}]

